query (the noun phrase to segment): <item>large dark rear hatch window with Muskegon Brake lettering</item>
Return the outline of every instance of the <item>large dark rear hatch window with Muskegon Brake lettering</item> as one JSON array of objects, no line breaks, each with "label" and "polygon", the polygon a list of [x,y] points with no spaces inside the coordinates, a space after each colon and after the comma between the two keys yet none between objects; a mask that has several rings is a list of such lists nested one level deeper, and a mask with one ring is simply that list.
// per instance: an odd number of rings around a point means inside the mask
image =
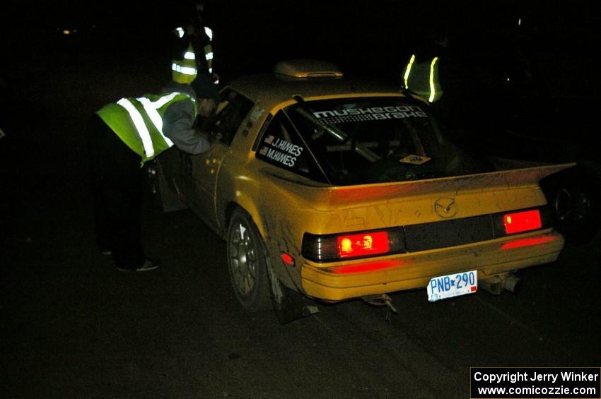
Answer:
[{"label": "large dark rear hatch window with Muskegon Brake lettering", "polygon": [[[286,141],[292,145],[288,145],[288,153],[301,149],[310,176],[330,184],[410,181],[489,171],[483,162],[450,143],[428,106],[416,100],[362,97],[299,102],[280,112],[279,120],[284,119],[282,113],[288,130],[293,131]],[[262,143],[270,140],[269,128]],[[269,150],[265,148],[267,145],[259,147],[257,153]]]}]

